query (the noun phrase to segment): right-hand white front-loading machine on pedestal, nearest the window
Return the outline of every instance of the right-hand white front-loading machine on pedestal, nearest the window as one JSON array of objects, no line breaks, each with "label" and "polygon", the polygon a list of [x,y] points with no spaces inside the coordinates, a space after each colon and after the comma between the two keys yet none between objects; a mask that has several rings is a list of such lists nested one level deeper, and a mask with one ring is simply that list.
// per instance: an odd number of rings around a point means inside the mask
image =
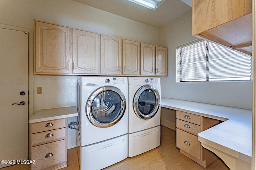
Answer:
[{"label": "right-hand white front-loading machine on pedestal, nearest the window", "polygon": [[160,145],[160,78],[128,77],[128,157]]}]

